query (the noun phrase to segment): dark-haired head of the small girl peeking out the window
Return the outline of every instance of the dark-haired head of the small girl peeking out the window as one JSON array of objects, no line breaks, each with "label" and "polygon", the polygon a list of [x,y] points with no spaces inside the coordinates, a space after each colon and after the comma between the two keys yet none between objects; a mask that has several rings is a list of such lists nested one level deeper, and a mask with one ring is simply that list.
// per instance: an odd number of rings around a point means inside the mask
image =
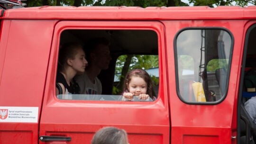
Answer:
[{"label": "dark-haired head of the small girl peeking out the window", "polygon": [[[140,93],[136,92],[137,90]],[[149,74],[142,69],[134,69],[126,74],[124,92],[136,94],[148,94],[150,98],[155,96],[153,82]]]}]

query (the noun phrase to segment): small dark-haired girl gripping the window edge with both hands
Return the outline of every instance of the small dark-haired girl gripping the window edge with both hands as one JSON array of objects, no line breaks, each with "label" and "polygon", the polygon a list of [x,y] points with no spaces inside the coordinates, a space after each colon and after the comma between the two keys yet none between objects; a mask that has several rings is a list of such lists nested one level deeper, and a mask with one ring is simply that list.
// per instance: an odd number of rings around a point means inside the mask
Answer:
[{"label": "small dark-haired girl gripping the window edge with both hands", "polygon": [[134,69],[128,72],[125,77],[123,97],[133,100],[133,96],[138,96],[139,99],[143,100],[148,97],[153,100],[156,99],[153,82],[149,74],[142,69]]}]

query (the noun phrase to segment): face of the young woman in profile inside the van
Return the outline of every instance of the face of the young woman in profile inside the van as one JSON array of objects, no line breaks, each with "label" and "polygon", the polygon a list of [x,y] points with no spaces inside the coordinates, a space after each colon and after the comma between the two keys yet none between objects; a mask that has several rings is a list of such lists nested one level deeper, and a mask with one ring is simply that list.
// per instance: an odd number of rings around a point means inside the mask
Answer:
[{"label": "face of the young woman in profile inside the van", "polygon": [[72,67],[77,72],[84,72],[85,66],[88,63],[85,59],[85,54],[82,49],[77,50],[77,54],[75,55],[72,61]]}]

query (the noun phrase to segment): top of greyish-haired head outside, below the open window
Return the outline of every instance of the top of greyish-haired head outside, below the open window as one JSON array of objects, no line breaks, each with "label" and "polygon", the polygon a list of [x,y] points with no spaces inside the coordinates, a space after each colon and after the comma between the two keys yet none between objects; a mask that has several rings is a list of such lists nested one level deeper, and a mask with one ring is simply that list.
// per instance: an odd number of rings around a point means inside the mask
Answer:
[{"label": "top of greyish-haired head outside, below the open window", "polygon": [[128,144],[128,136],[124,129],[107,126],[95,133],[91,144]]}]

